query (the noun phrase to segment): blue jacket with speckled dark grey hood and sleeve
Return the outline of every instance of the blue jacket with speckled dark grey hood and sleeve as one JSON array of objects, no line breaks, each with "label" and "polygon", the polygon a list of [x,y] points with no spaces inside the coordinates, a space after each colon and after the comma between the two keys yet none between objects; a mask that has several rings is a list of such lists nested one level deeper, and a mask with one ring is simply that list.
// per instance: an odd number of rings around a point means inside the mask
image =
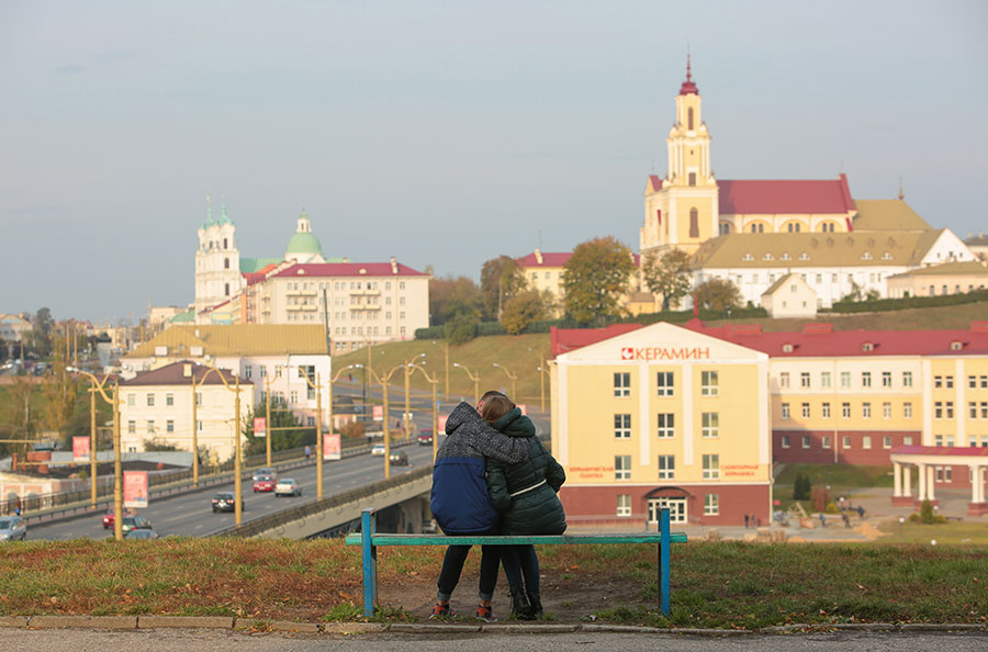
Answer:
[{"label": "blue jacket with speckled dark grey hood and sleeve", "polygon": [[493,530],[497,510],[487,493],[484,458],[516,464],[528,457],[529,442],[498,432],[469,403],[460,403],[449,415],[446,435],[433,470],[433,516],[447,535]]}]

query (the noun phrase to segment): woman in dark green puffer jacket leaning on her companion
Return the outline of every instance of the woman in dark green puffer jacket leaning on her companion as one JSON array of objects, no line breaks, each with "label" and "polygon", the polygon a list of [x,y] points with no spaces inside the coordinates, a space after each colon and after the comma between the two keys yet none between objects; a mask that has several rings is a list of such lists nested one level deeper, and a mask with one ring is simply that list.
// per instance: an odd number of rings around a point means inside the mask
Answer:
[{"label": "woman in dark green puffer jacket leaning on her companion", "polygon": [[[566,474],[536,437],[531,419],[499,392],[484,395],[480,413],[494,429],[529,440],[530,454],[517,464],[487,460],[487,490],[501,513],[498,533],[563,533],[566,515],[557,494]],[[524,619],[541,618],[539,559],[535,547],[502,547],[502,564],[510,586],[512,612]]]}]

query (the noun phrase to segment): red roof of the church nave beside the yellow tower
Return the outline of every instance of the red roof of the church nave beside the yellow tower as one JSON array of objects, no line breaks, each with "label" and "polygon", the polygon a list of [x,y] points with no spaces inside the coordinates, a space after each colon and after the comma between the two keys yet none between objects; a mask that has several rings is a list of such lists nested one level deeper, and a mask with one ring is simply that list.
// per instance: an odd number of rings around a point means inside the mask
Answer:
[{"label": "red roof of the church nave beside the yellow tower", "polygon": [[854,211],[847,177],[718,181],[720,214],[840,214]]}]

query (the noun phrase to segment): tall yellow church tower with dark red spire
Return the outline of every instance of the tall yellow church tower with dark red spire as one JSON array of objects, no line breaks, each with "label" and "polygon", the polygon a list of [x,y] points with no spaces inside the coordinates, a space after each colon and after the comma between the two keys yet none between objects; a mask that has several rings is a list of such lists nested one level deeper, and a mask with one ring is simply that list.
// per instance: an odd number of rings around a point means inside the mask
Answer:
[{"label": "tall yellow church tower with dark red spire", "polygon": [[639,234],[642,255],[675,247],[689,254],[718,233],[717,180],[710,169],[710,134],[704,123],[701,99],[689,55],[686,80],[676,95],[676,122],[665,139],[669,173],[650,176],[644,193],[645,215]]}]

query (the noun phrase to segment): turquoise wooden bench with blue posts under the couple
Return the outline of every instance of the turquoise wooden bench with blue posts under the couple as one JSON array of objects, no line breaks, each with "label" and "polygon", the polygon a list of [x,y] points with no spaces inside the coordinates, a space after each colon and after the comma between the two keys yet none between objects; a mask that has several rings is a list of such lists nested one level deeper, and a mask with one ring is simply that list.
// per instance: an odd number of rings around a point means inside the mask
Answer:
[{"label": "turquoise wooden bench with blue posts under the couple", "polygon": [[[347,546],[363,549],[363,615],[373,618],[378,604],[378,548],[382,546],[588,546],[594,543],[654,543],[659,547],[659,593],[660,607],[664,616],[670,615],[669,560],[672,543],[684,543],[684,532],[669,529],[669,509],[661,509],[658,532],[615,532],[604,535],[540,535],[534,537],[465,536],[444,535],[383,535],[377,532],[375,509],[370,507],[361,514],[360,533],[347,535]],[[436,569],[439,573],[439,569]]]}]

